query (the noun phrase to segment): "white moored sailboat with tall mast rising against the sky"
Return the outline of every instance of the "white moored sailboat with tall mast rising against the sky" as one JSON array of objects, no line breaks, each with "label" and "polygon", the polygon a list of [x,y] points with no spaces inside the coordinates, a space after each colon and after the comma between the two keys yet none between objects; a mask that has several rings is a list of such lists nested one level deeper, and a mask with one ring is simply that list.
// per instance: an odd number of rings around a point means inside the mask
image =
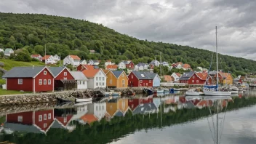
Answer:
[{"label": "white moored sailboat with tall mast rising against the sky", "polygon": [[[218,62],[217,62],[217,26],[216,26],[216,69],[217,69],[217,84],[216,86],[204,86],[204,95],[208,96],[231,96],[231,92],[229,91],[220,91],[219,87],[219,72],[218,72]],[[207,84],[207,81],[205,82]]]}]

